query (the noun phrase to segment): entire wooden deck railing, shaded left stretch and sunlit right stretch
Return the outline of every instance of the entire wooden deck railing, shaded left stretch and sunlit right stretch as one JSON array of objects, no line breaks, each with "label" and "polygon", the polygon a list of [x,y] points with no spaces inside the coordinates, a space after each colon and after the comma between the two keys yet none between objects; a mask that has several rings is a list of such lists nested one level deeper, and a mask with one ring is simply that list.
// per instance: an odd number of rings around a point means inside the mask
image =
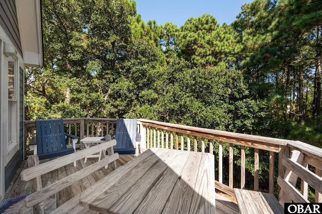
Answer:
[{"label": "entire wooden deck railing, shaded left stretch and sunlit right stretch", "polygon": [[[64,119],[66,130],[70,134],[78,135],[81,139],[87,136],[105,136],[113,133],[117,119],[96,119],[96,118],[80,118],[80,119]],[[245,188],[246,184],[246,159],[249,155],[254,157],[254,190],[259,191],[259,166],[263,161],[269,161],[269,186],[267,189],[261,190],[274,192],[276,177],[274,178],[274,166],[278,165],[278,175],[284,176],[285,166],[282,164],[284,156],[289,157],[291,150],[299,150],[304,154],[303,166],[314,172],[317,176],[322,176],[322,149],[308,145],[299,141],[283,140],[276,138],[268,138],[262,136],[246,135],[190,126],[183,126],[171,123],[163,123],[157,121],[138,119],[138,132],[141,134],[141,147],[148,148],[169,148],[188,151],[209,152],[215,155],[215,167],[217,176],[215,186],[220,191],[229,195],[234,195],[233,188]],[[34,133],[35,122],[25,122],[25,143],[27,136]],[[252,148],[252,154],[246,154],[247,147]],[[224,148],[227,148],[228,157],[224,159]],[[236,154],[236,151],[238,155]],[[265,151],[269,159],[263,160],[259,155],[261,151]],[[278,158],[275,156],[278,156]],[[226,160],[228,166],[223,164]],[[275,163],[278,160],[278,164]],[[237,161],[240,165],[240,177],[236,177],[233,173],[233,162]],[[238,166],[239,167],[239,166]],[[225,173],[226,172],[226,173]],[[228,174],[228,176],[224,176]],[[239,176],[239,173],[238,173]],[[240,180],[236,184],[234,179]],[[297,187],[301,190],[304,197],[308,195],[308,185],[301,180]],[[322,184],[321,184],[322,185]],[[313,190],[314,191],[314,190]],[[315,191],[315,201],[322,202],[322,195]]]}]

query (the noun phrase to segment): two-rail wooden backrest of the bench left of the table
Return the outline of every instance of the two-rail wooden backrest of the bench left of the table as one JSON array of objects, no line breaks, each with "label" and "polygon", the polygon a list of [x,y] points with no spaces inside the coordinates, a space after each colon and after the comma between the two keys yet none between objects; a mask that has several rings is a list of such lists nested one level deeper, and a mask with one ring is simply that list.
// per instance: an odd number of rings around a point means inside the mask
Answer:
[{"label": "two-rail wooden backrest of the bench left of the table", "polygon": [[[34,192],[25,198],[25,205],[27,207],[31,207],[31,206],[41,207],[42,201],[48,198],[49,196],[51,196],[52,194],[57,193],[58,191],[64,189],[65,187],[71,185],[72,183],[78,180],[81,180],[82,178],[97,171],[98,169],[104,166],[107,166],[109,163],[114,162],[119,157],[117,153],[113,154],[114,152],[112,149],[113,149],[113,146],[115,145],[116,145],[116,140],[104,142],[97,146],[93,146],[91,148],[79,151],[77,153],[69,154],[64,157],[60,157],[40,165],[39,165],[39,160],[37,155],[29,156],[27,161],[32,166],[29,166],[30,168],[27,168],[21,172],[21,179],[23,181],[28,181],[33,179],[32,185],[33,185]],[[109,153],[108,157],[82,170],[79,170],[74,174],[71,174],[63,179],[60,179],[55,183],[52,183],[46,186],[45,188],[41,188],[42,186],[41,178],[40,178],[41,175],[106,149],[112,150],[111,153]]]}]

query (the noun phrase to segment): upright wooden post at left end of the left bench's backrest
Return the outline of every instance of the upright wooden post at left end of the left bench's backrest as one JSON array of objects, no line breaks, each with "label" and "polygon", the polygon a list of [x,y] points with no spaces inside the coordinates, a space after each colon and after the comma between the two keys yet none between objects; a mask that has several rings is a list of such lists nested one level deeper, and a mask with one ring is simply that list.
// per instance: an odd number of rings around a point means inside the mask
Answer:
[{"label": "upright wooden post at left end of the left bench's backrest", "polygon": [[[31,168],[33,166],[38,166],[39,165],[39,158],[37,155],[31,155],[27,159],[28,163],[28,168]],[[36,192],[42,189],[41,185],[41,177],[38,176],[34,179],[31,180],[31,185],[32,185],[32,192]],[[34,213],[45,213],[45,207],[44,207],[44,202],[41,201],[37,203],[36,205],[33,206]]]}]

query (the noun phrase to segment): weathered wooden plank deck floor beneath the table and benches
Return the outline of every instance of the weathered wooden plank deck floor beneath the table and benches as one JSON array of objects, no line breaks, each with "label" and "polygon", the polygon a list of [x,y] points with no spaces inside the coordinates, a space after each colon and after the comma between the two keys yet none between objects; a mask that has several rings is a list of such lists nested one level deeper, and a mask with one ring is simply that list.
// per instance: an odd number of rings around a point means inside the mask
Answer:
[{"label": "weathered wooden plank deck floor beneath the table and benches", "polygon": [[[119,159],[116,161],[116,164],[118,167],[122,166],[128,161],[132,160],[133,158],[134,158],[134,155],[120,155]],[[46,161],[48,160],[43,160],[41,161],[41,163],[44,163]],[[74,167],[73,164],[68,164],[65,167],[52,171],[41,177],[43,187],[57,180],[60,180],[76,171],[79,171],[85,168],[86,166],[89,166],[90,164],[95,163],[96,161],[97,161],[97,158],[89,158],[87,163],[84,163],[84,159],[82,159],[77,161],[76,167]],[[18,197],[21,195],[31,193],[31,181],[25,182],[20,179],[20,172],[25,168],[27,168],[27,164],[24,161],[21,164],[21,167],[18,169],[17,174],[13,179],[13,182],[8,188],[5,195],[5,199]],[[76,182],[71,186],[61,190],[55,196],[53,196],[52,199],[48,199],[47,201],[45,201],[45,207],[48,209],[53,209],[55,206],[57,207],[60,206],[65,201],[69,200],[73,196],[77,195],[78,193],[92,186],[94,183],[96,183],[98,180],[100,180],[110,172],[111,170],[109,168],[108,169],[104,169],[104,167],[101,168],[100,170],[83,178],[79,182]],[[55,197],[56,199],[54,199]],[[55,204],[55,201],[56,201],[56,204]],[[239,212],[237,204],[232,202],[228,198],[224,197],[222,194],[216,194],[215,204],[216,204],[217,213],[238,213]],[[12,213],[32,213],[32,208],[28,210],[23,209],[23,212],[19,210],[22,210],[22,209],[21,207],[18,206],[17,210],[12,211]]]}]

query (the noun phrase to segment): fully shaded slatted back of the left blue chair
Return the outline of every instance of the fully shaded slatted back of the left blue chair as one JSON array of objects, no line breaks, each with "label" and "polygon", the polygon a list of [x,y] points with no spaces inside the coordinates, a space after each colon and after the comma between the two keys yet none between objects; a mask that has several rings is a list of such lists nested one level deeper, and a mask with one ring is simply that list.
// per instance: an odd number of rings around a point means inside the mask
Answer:
[{"label": "fully shaded slatted back of the left blue chair", "polygon": [[38,155],[66,150],[62,119],[36,121],[36,131]]}]

